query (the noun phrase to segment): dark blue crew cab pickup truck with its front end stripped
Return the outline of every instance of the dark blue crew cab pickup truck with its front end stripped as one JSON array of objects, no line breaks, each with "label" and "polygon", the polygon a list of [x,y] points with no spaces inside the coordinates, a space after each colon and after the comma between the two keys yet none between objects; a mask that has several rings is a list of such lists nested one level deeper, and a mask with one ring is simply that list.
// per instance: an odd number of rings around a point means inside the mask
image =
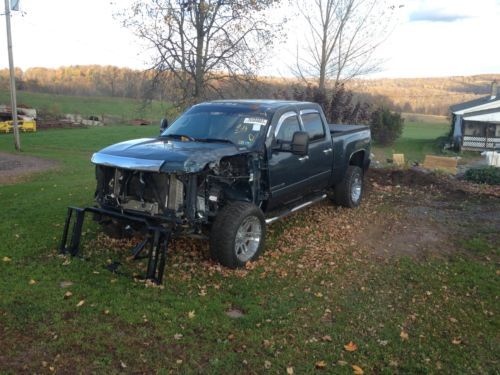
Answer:
[{"label": "dark blue crew cab pickup truck with its front end stripped", "polygon": [[236,268],[261,254],[267,224],[327,196],[360,204],[370,129],[328,124],[315,103],[219,100],[92,162],[99,209],[115,212],[101,221],[107,230],[141,231],[127,220],[140,217],[174,235],[204,236],[212,258]]}]

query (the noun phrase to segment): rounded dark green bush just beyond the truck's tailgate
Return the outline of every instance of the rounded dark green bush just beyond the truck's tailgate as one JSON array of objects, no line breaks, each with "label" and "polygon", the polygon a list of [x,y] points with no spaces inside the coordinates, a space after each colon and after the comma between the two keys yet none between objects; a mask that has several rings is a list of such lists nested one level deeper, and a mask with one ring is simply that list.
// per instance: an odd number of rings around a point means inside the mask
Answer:
[{"label": "rounded dark green bush just beyond the truck's tailgate", "polygon": [[382,146],[387,146],[403,132],[404,119],[401,113],[391,112],[388,108],[380,107],[372,112],[371,131],[372,138]]}]

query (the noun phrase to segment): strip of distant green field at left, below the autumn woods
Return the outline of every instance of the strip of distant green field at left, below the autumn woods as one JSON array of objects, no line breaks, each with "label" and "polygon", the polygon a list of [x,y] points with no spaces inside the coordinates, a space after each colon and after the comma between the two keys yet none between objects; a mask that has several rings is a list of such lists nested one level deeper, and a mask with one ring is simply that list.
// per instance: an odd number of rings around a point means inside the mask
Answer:
[{"label": "strip of distant green field at left, below the autumn woods", "polygon": [[[83,116],[105,114],[122,117],[124,120],[146,118],[156,121],[163,117],[168,109],[166,103],[158,101],[144,106],[142,101],[129,98],[69,96],[27,91],[17,92],[17,102],[55,113],[79,113]],[[0,104],[10,104],[8,91],[0,91]]]}]

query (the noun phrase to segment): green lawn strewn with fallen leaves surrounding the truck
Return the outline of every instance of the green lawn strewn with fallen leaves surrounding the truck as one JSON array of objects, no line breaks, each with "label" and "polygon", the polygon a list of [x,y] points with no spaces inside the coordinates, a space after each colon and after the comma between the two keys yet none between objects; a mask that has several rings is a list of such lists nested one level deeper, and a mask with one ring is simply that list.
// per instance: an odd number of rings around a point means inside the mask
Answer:
[{"label": "green lawn strewn with fallen leaves surrounding the truck", "polygon": [[[432,150],[418,129],[408,124],[396,151]],[[446,131],[425,129],[426,137]],[[92,152],[157,132],[22,134],[26,154],[59,167],[0,186],[0,373],[498,371],[494,228],[467,222],[477,234],[452,239],[459,251],[446,256],[376,258],[356,244],[356,233],[393,220],[384,191],[368,194],[358,210],[324,203],[272,225],[267,253],[250,270],[221,269],[204,244],[179,241],[163,289],[135,282],[129,273],[141,266],[93,225],[83,258],[59,256],[66,207],[93,201]],[[1,135],[0,151],[11,150],[12,135]],[[104,269],[116,258],[125,275]],[[231,318],[229,309],[243,316]],[[352,351],[344,347],[350,341]]]}]

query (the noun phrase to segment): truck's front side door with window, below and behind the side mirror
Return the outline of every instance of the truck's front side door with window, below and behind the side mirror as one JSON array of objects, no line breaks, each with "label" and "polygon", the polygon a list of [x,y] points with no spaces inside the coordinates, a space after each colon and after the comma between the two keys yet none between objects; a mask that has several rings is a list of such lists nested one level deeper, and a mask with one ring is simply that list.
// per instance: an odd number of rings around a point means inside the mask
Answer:
[{"label": "truck's front side door with window, below and behind the side mirror", "polygon": [[[293,134],[301,131],[299,118],[295,112],[284,113],[274,130],[273,145],[291,142]],[[307,156],[291,152],[273,150],[269,154],[269,181],[271,200],[268,209],[300,199],[307,193]]]}]

